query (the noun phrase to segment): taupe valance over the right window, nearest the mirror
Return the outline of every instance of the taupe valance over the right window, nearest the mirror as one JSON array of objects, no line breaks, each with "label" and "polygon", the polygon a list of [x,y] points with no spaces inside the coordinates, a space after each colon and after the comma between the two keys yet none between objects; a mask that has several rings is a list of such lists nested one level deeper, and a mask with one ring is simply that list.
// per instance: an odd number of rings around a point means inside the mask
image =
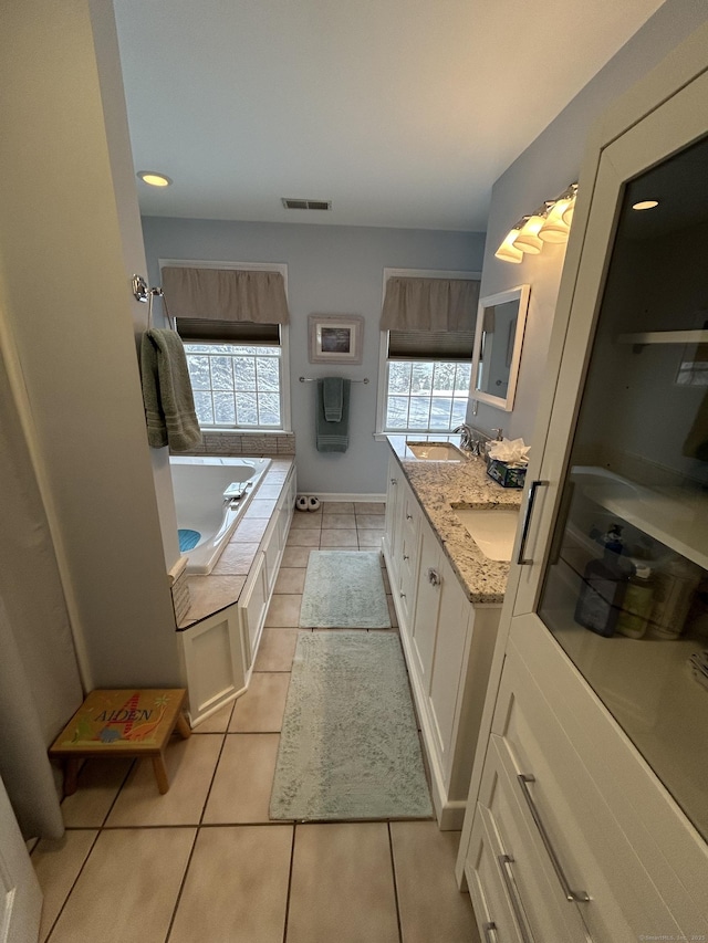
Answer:
[{"label": "taupe valance over the right window, nearest the mirror", "polygon": [[382,331],[473,331],[479,282],[467,279],[404,279],[386,282]]}]

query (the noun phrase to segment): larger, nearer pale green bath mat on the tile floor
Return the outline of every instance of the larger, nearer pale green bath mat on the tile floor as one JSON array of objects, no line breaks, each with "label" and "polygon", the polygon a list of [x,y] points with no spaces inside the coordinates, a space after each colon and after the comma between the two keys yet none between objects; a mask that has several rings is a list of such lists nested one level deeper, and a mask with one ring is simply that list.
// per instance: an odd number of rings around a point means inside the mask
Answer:
[{"label": "larger, nearer pale green bath mat on the tile floor", "polygon": [[299,632],[271,819],[431,815],[398,636]]}]

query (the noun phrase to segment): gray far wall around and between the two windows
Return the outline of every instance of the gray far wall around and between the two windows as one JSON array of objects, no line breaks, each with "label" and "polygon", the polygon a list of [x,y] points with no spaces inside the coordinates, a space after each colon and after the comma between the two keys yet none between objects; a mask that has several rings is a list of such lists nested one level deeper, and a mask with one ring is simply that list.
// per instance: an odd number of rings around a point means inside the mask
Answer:
[{"label": "gray far wall around and between the two windows", "polygon": [[[384,269],[479,272],[483,233],[155,217],[143,220],[143,232],[153,284],[159,284],[160,258],[288,264],[299,490],[319,495],[385,492],[388,447],[373,437]],[[299,377],[324,376],[335,368],[308,362],[309,314],[362,314],[366,319],[363,364],[341,368],[342,376],[371,379],[367,386],[352,387],[344,454],[323,454],[314,447],[314,385],[301,384]]]}]

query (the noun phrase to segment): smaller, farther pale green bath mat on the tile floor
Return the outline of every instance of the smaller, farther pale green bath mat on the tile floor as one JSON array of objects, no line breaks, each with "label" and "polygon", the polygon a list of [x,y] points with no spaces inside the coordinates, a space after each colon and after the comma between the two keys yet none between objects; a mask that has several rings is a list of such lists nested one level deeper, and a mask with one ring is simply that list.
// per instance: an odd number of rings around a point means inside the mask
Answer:
[{"label": "smaller, farther pale green bath mat on the tile floor", "polygon": [[303,629],[389,629],[381,556],[312,551],[300,605]]}]

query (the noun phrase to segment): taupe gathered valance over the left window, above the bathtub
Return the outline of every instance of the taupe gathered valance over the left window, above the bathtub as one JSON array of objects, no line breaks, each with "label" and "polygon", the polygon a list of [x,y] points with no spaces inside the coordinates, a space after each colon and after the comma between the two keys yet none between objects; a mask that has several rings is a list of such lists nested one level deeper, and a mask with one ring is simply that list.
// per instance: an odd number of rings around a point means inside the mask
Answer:
[{"label": "taupe gathered valance over the left window, above the bathtub", "polygon": [[288,324],[280,272],[166,266],[163,292],[170,317]]}]

